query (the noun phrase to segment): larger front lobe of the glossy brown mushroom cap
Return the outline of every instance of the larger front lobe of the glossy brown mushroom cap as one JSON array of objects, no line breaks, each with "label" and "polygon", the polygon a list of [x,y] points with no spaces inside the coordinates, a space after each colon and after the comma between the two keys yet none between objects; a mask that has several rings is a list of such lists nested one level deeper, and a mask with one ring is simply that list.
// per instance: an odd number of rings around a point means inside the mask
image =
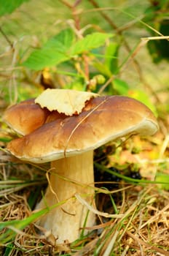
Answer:
[{"label": "larger front lobe of the glossy brown mushroom cap", "polygon": [[153,135],[158,129],[149,108],[119,96],[90,99],[78,116],[55,118],[53,113],[52,120],[12,140],[8,150],[28,162],[50,162],[94,150],[125,135]]}]

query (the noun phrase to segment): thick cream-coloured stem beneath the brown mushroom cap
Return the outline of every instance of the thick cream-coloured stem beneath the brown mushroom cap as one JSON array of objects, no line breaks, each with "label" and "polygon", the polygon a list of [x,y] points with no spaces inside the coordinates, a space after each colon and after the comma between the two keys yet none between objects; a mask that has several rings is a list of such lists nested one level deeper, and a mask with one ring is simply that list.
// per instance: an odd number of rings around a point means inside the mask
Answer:
[{"label": "thick cream-coloured stem beneath the brown mushroom cap", "polygon": [[39,219],[38,224],[51,230],[59,243],[72,242],[79,238],[82,232],[80,227],[83,227],[86,218],[87,227],[93,226],[95,222],[95,215],[92,212],[87,215],[87,208],[74,197],[78,194],[84,196],[87,203],[92,203],[94,189],[89,185],[94,183],[93,151],[58,159],[51,163],[51,167],[50,186],[36,208],[53,206],[63,200],[66,203],[52,209]]}]

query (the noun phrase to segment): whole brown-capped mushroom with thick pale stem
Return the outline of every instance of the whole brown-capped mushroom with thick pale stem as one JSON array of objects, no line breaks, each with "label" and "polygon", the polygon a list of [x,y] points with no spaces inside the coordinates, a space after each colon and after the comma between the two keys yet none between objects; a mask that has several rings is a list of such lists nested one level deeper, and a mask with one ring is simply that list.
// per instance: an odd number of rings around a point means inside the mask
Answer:
[{"label": "whole brown-capped mushroom with thick pale stem", "polygon": [[[50,98],[47,101],[50,102]],[[29,112],[33,107],[27,103],[25,101]],[[121,96],[91,96],[84,99],[79,113],[74,110],[71,116],[67,116],[64,110],[50,112],[47,105],[40,108],[34,100],[31,104],[44,113],[39,126],[12,140],[7,149],[23,161],[51,162],[50,184],[36,208],[53,206],[58,202],[63,204],[41,217],[38,224],[50,230],[58,242],[72,242],[79,238],[84,222],[88,227],[95,223],[95,214],[88,213],[87,208],[74,197],[78,194],[93,204],[94,149],[126,135],[154,135],[158,129],[157,119],[146,105]],[[9,108],[4,114],[4,120],[14,129],[15,123],[9,122],[7,113],[17,108],[17,119],[22,122],[19,106]]]}]

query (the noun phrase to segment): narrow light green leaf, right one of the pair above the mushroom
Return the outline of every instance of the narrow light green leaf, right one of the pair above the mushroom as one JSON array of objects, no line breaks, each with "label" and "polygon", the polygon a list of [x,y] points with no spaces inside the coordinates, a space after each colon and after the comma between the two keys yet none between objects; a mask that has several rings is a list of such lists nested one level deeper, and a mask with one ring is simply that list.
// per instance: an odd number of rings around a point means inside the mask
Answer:
[{"label": "narrow light green leaf, right one of the pair above the mushroom", "polygon": [[112,37],[112,34],[104,34],[99,32],[88,34],[86,37],[84,37],[83,39],[80,39],[71,47],[71,50],[70,50],[71,56],[98,48],[104,45],[106,42],[106,39],[110,37]]}]

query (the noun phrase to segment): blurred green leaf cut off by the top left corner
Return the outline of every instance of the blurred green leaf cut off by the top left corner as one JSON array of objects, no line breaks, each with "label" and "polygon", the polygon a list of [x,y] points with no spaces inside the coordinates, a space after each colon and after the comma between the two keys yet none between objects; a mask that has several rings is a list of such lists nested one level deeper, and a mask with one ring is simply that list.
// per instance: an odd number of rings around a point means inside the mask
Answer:
[{"label": "blurred green leaf cut off by the top left corner", "polygon": [[0,0],[0,16],[12,13],[25,1],[29,0]]}]

